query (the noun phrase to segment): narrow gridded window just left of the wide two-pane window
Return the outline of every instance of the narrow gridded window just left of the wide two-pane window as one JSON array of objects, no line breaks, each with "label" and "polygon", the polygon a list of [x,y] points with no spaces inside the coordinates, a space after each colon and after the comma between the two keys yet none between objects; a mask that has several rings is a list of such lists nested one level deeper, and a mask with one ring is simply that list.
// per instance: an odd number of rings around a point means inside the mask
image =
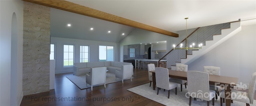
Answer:
[{"label": "narrow gridded window just left of the wide two-pane window", "polygon": [[89,46],[80,46],[80,63],[88,62]]}]

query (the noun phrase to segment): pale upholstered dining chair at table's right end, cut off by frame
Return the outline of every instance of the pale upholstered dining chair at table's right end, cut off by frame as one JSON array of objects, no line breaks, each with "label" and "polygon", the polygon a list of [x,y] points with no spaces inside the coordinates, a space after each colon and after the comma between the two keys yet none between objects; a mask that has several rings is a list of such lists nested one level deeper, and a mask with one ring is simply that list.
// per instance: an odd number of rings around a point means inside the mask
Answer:
[{"label": "pale upholstered dining chair at table's right end, cut off by frame", "polygon": [[[253,104],[254,94],[256,89],[256,72],[252,74],[252,78],[250,80],[250,84],[248,88],[248,93],[238,91],[236,88],[237,87],[234,86],[234,90],[231,90],[230,96],[232,100],[236,100],[238,102],[244,102],[246,103],[246,106],[250,106],[250,104]],[[239,88],[239,89],[242,89],[242,88]],[[232,98],[233,95],[236,95],[235,98]],[[225,90],[222,90],[220,92],[220,106],[222,106],[223,98],[225,98]]]}]

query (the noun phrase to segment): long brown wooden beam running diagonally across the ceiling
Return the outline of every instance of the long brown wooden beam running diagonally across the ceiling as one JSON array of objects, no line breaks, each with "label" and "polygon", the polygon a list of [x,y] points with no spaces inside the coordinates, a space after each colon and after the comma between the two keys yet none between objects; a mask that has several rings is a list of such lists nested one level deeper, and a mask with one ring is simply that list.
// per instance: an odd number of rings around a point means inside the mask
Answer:
[{"label": "long brown wooden beam running diagonally across the ceiling", "polygon": [[48,6],[48,7],[52,7],[52,8],[57,8],[60,10],[73,12],[76,14],[81,14],[81,15],[89,16],[89,17],[93,17],[93,18],[98,18],[98,19],[102,19],[102,20],[106,20],[109,22],[114,22],[114,23],[118,23],[118,24],[122,24],[122,25],[126,25],[126,26],[136,27],[139,29],[144,29],[144,30],[148,30],[148,31],[156,32],[156,33],[161,33],[161,34],[169,35],[172,37],[179,36],[177,33],[166,31],[164,29],[160,29],[160,28],[153,27],[153,26],[148,26],[146,24],[142,24],[139,22],[135,22],[135,21],[126,19],[126,18],[108,14],[106,12],[88,8],[86,6],[81,6],[79,4],[68,2],[65,0],[23,0],[23,1],[32,2],[35,4],[40,4],[40,5]]}]

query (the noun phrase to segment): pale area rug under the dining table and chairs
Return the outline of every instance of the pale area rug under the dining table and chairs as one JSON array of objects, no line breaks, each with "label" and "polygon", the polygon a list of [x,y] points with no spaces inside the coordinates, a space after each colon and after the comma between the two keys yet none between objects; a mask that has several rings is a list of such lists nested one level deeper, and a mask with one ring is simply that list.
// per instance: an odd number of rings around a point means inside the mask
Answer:
[{"label": "pale area rug under the dining table and chairs", "polygon": [[[166,106],[188,106],[189,105],[189,96],[186,96],[188,90],[186,88],[180,91],[180,88],[177,88],[177,95],[175,95],[175,89],[172,89],[170,92],[170,98],[168,98],[168,90],[164,92],[164,90],[159,90],[159,94],[157,95],[157,89],[153,90],[153,87],[149,87],[149,83],[143,84],[140,86],[136,86],[134,88],[127,89],[130,92],[134,92],[138,95],[141,95],[145,98],[158,102],[160,104]],[[191,106],[207,106],[207,101],[205,100],[194,100],[192,98]],[[210,101],[210,106],[212,106],[212,101]],[[214,101],[214,106],[220,106],[220,99]],[[226,106],[223,104],[223,106]],[[234,101],[231,103],[231,106],[246,106],[245,103]],[[254,100],[254,104],[250,104],[250,106],[256,106],[256,100]]]}]

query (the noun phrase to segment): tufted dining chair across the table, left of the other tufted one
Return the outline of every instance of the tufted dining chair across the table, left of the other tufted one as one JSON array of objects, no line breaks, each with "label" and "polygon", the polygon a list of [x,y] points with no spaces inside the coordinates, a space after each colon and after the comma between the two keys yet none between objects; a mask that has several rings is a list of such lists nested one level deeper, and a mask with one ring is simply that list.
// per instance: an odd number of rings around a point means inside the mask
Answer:
[{"label": "tufted dining chair across the table, left of the other tufted one", "polygon": [[[184,64],[177,64],[176,65],[176,71],[185,71],[187,72],[188,71],[188,65],[184,65]],[[182,84],[185,85],[185,88],[187,88],[187,85],[186,85],[186,80],[180,80],[180,79],[173,79],[173,78],[170,78],[170,81],[172,82],[176,82],[178,84],[180,84],[180,91],[182,92]]]}]

